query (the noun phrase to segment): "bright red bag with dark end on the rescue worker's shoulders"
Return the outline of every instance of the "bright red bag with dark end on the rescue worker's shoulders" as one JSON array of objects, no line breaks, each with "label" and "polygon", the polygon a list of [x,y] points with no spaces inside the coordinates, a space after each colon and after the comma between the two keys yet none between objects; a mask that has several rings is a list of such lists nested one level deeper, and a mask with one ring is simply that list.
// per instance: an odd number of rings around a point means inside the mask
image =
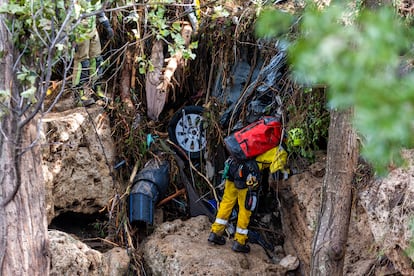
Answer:
[{"label": "bright red bag with dark end on the rescue worker's shoulders", "polygon": [[282,124],[279,118],[265,116],[227,136],[224,143],[232,156],[245,160],[278,146],[281,135]]}]

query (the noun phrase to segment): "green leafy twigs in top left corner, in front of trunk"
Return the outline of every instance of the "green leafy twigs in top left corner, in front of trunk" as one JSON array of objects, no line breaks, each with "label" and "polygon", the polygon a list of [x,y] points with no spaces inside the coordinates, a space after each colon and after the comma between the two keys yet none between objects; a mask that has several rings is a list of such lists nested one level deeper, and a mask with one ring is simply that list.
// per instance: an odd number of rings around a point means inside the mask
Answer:
[{"label": "green leafy twigs in top left corner, in front of trunk", "polygon": [[[7,15],[5,23],[14,49],[19,51],[15,70],[25,107],[39,107],[51,68],[62,57],[71,56],[71,10],[73,6],[66,7],[64,1],[11,0],[0,7],[0,13]],[[29,108],[26,111],[32,112]]]}]

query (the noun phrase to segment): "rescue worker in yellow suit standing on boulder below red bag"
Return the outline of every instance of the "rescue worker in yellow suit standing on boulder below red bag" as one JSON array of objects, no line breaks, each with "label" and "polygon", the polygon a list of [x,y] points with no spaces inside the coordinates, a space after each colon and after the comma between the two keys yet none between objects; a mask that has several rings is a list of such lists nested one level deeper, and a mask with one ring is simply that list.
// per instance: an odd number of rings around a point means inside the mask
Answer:
[{"label": "rescue worker in yellow suit standing on boulder below red bag", "polygon": [[250,252],[250,247],[246,244],[247,227],[256,204],[254,198],[251,197],[252,191],[258,189],[261,171],[264,169],[269,168],[272,174],[277,171],[286,172],[286,160],[287,152],[282,146],[274,147],[253,160],[237,161],[233,157],[226,160],[228,175],[225,179],[223,198],[208,237],[210,243],[218,245],[226,243],[223,236],[224,230],[233,207],[238,203],[239,211],[232,250],[242,253]]}]

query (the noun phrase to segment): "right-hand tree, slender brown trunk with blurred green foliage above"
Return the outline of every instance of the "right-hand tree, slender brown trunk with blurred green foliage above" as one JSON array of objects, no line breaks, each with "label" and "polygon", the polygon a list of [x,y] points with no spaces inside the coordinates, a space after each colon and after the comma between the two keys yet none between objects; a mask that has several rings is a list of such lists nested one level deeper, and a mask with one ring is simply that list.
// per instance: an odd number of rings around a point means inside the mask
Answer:
[{"label": "right-hand tree, slender brown trunk with blurred green foliage above", "polygon": [[[362,155],[380,175],[390,164],[400,165],[401,149],[414,142],[413,73],[400,70],[412,55],[413,30],[390,6],[372,11],[350,4],[335,2],[323,9],[309,4],[289,50],[299,82],[327,85],[331,110],[311,275],[342,275],[358,152],[350,123],[362,141]],[[283,33],[279,27],[293,22],[280,11],[262,20],[262,34],[269,26],[274,34]]]}]

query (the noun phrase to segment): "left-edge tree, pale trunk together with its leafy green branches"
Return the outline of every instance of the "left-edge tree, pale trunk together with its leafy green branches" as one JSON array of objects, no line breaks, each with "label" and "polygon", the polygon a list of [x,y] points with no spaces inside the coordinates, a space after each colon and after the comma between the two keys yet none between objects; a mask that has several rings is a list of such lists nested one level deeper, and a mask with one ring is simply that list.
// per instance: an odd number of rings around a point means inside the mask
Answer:
[{"label": "left-edge tree, pale trunk together with its leafy green branches", "polygon": [[40,118],[53,68],[72,62],[70,1],[0,1],[0,275],[48,275]]}]

